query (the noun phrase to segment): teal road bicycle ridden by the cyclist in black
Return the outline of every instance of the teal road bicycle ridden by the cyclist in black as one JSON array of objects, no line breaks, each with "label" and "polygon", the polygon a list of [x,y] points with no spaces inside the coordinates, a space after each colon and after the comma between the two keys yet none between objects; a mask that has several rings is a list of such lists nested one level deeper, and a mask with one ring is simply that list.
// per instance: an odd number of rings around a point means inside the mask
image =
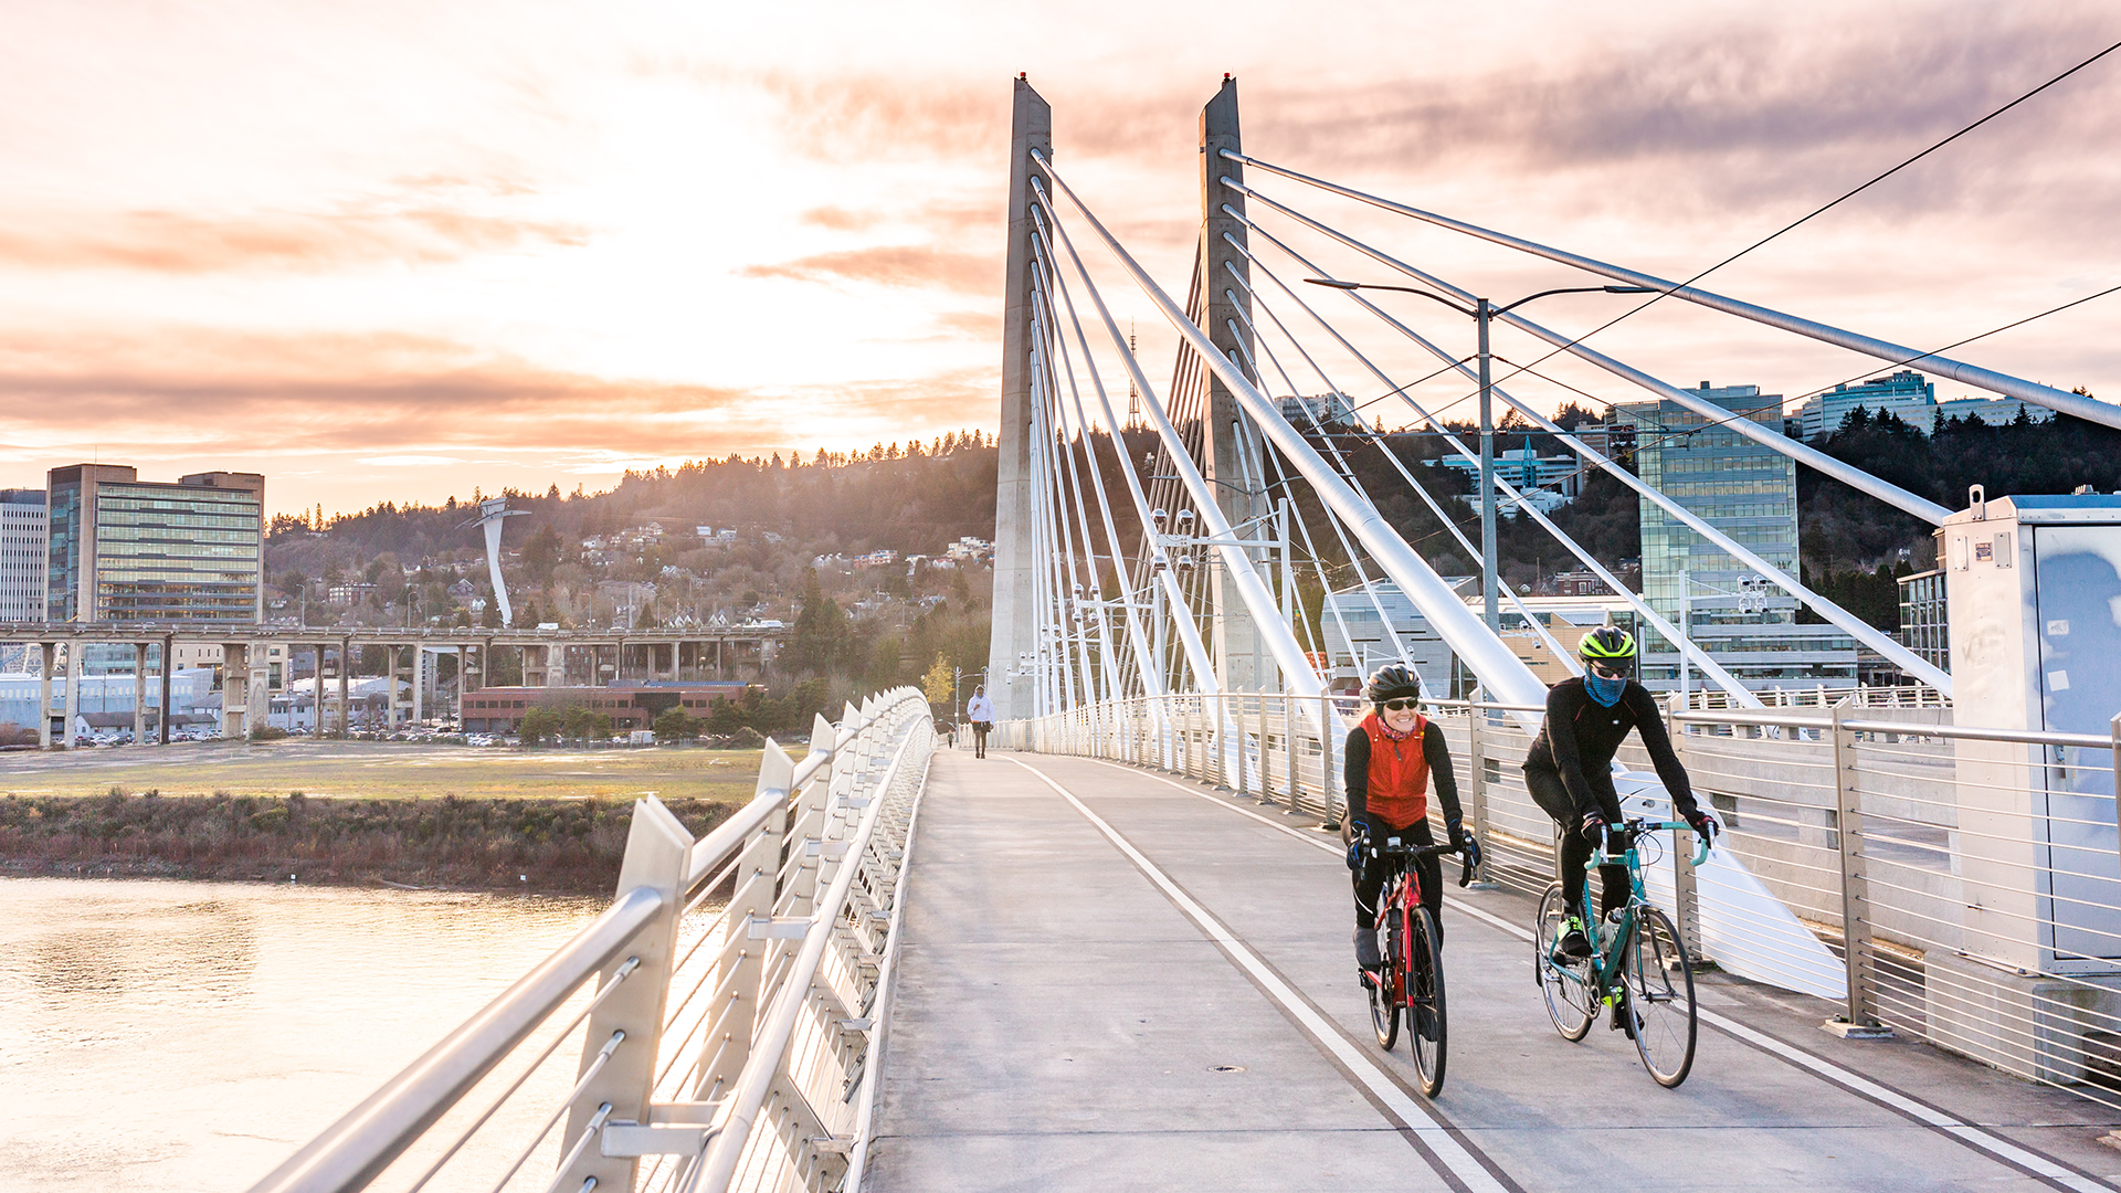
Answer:
[{"label": "teal road bicycle ridden by the cyclist in black", "polygon": [[[1627,841],[1620,853],[1608,853],[1601,843],[1584,864],[1584,902],[1597,883],[1599,866],[1627,866],[1629,900],[1601,921],[1584,917],[1591,938],[1589,957],[1561,955],[1561,936],[1570,930],[1570,909],[1561,900],[1561,883],[1546,887],[1540,900],[1540,921],[1533,932],[1533,981],[1546,1000],[1546,1015],[1563,1040],[1582,1040],[1599,1010],[1612,1008],[1614,1021],[1642,1055],[1665,1089],[1686,1080],[1695,1066],[1695,966],[1671,917],[1650,904],[1642,889],[1642,843],[1663,830],[1693,832],[1684,822],[1629,819],[1618,836]],[[1710,855],[1703,838],[1695,849],[1699,866]]]}]

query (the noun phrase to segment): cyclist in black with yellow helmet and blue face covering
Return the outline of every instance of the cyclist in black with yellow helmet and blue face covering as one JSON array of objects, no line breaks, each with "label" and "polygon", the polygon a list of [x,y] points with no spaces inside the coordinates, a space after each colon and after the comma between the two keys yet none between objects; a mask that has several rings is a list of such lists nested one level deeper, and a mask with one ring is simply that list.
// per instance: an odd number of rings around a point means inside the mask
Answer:
[{"label": "cyclist in black with yellow helmet and blue face covering", "polygon": [[[1570,906],[1570,930],[1561,934],[1561,953],[1589,957],[1591,940],[1582,930],[1584,864],[1606,836],[1620,826],[1620,794],[1612,788],[1612,756],[1629,730],[1642,734],[1657,777],[1671,796],[1671,809],[1695,826],[1705,841],[1716,838],[1716,822],[1695,805],[1686,768],[1671,751],[1663,711],[1648,688],[1629,679],[1635,664],[1635,637],[1618,626],[1599,626],[1582,637],[1578,654],[1584,673],[1563,679],[1546,692],[1546,724],[1525,756],[1525,788],[1531,800],[1561,826],[1561,898]],[[1627,849],[1608,841],[1606,851]],[[1599,866],[1599,913],[1610,913],[1629,898],[1627,866]]]}]

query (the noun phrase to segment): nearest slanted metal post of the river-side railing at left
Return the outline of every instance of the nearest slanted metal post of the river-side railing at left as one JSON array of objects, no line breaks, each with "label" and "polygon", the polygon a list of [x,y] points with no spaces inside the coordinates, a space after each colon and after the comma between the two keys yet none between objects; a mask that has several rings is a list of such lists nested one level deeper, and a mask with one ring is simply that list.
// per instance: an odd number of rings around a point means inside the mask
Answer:
[{"label": "nearest slanted metal post of the river-side railing at left", "polygon": [[[655,1055],[662,1051],[664,1008],[670,1000],[670,970],[677,959],[677,928],[685,915],[685,879],[691,868],[691,832],[655,798],[634,800],[619,866],[619,896],[649,887],[662,906],[632,940],[641,964],[632,979],[590,1013],[581,1036],[581,1093],[566,1110],[566,1134],[577,1140],[602,1123],[647,1123],[655,1087]],[[626,957],[604,962],[598,987],[619,981]],[[624,1042],[607,1053],[607,1044]],[[630,1044],[630,1047],[628,1047]],[[600,1189],[632,1189],[641,1159],[607,1157],[602,1148],[579,1148],[560,1174],[562,1189],[581,1189],[592,1176]]]}]

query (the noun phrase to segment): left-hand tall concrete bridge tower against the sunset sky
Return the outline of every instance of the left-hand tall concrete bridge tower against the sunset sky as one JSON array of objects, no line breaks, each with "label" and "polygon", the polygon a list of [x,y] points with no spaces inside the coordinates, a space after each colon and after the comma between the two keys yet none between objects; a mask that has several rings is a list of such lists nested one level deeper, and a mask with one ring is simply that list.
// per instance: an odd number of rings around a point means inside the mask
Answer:
[{"label": "left-hand tall concrete bridge tower against the sunset sky", "polygon": [[995,473],[995,620],[986,654],[986,694],[997,720],[1029,717],[1035,709],[1035,679],[1020,675],[1018,656],[1039,650],[1037,573],[1039,558],[1033,467],[1033,371],[1031,371],[1031,153],[1052,161],[1052,106],[1016,81],[1010,121],[1010,246],[1001,293],[1001,459]]}]

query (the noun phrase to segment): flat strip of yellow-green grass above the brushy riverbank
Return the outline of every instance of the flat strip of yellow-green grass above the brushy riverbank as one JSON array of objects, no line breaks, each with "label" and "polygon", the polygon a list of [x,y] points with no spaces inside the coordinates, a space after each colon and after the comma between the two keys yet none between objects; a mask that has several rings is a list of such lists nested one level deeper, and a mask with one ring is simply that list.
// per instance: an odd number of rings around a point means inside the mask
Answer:
[{"label": "flat strip of yellow-green grass above the brushy riverbank", "polygon": [[[791,749],[802,758],[804,749]],[[369,741],[180,743],[0,754],[0,794],[337,798],[751,798],[757,749],[473,749]]]}]

